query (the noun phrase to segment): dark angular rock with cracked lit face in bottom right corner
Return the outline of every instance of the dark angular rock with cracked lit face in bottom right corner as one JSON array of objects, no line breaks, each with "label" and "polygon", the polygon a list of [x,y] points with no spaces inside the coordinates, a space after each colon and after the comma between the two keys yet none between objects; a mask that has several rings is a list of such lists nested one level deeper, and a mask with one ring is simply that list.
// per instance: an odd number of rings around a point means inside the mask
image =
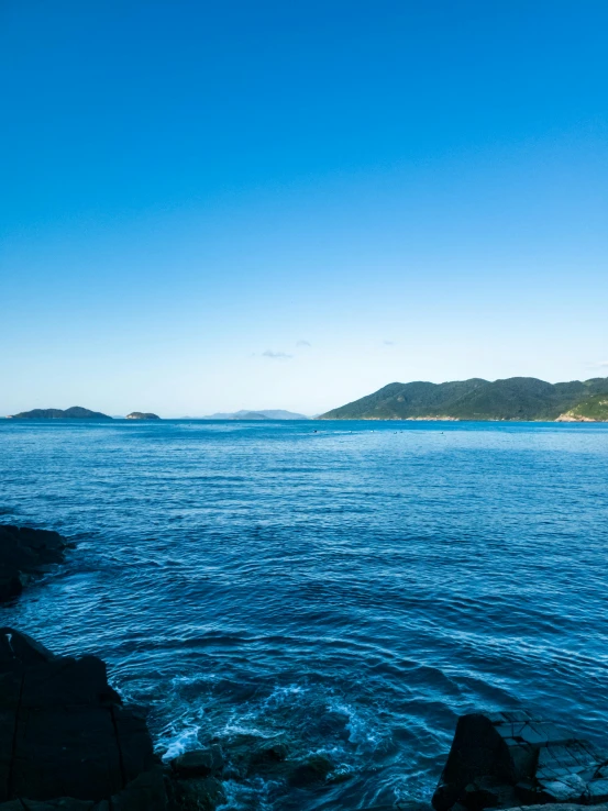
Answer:
[{"label": "dark angular rock with cracked lit face in bottom right corner", "polygon": [[608,802],[608,756],[527,712],[463,715],[432,802],[435,811],[598,806]]}]

